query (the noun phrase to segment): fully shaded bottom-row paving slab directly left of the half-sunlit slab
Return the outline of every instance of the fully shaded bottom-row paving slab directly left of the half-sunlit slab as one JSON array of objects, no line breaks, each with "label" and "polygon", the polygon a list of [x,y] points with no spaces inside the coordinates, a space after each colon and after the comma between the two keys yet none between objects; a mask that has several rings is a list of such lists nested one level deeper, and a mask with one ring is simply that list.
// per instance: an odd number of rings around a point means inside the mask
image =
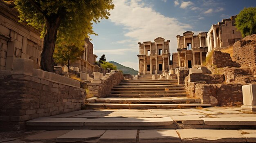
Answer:
[{"label": "fully shaded bottom-row paving slab directly left of the half-sunlit slab", "polygon": [[137,130],[107,130],[99,139],[100,143],[135,143]]}]

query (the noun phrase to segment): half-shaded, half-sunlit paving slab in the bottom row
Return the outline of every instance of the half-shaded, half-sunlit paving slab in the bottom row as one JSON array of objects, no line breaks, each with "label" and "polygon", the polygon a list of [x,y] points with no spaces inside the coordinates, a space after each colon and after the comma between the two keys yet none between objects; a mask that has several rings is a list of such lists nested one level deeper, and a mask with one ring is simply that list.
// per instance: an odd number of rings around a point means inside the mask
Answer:
[{"label": "half-shaded, half-sunlit paving slab in the bottom row", "polygon": [[140,130],[139,143],[178,143],[181,142],[176,130]]}]

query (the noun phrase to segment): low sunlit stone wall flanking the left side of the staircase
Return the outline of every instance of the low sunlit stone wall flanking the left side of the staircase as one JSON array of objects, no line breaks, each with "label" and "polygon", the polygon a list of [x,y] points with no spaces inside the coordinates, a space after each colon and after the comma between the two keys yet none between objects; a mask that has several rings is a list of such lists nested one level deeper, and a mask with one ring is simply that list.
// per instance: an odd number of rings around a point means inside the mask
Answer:
[{"label": "low sunlit stone wall flanking the left side of the staircase", "polygon": [[121,80],[124,79],[124,75],[119,70],[111,70],[110,73],[106,73],[102,79],[99,79],[92,83],[88,83],[89,95],[93,97],[103,98],[106,97],[111,91],[111,88],[118,85]]}]

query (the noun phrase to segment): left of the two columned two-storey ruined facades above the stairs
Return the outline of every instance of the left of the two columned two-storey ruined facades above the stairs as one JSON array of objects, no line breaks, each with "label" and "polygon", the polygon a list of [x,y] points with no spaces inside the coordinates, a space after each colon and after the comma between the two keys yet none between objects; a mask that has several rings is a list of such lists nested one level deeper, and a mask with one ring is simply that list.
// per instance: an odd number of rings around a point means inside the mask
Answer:
[{"label": "left of the two columned two-storey ruined facades above the stairs", "polygon": [[139,75],[161,74],[169,70],[170,65],[170,40],[157,37],[155,42],[146,41],[139,44]]}]

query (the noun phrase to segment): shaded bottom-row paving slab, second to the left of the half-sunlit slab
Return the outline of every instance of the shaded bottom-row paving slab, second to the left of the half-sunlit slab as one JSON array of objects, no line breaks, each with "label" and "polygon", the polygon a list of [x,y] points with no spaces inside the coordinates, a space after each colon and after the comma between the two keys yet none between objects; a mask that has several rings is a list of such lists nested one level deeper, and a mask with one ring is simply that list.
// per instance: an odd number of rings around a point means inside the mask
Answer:
[{"label": "shaded bottom-row paving slab, second to the left of the half-sunlit slab", "polygon": [[106,130],[72,130],[59,136],[56,142],[70,143],[70,142],[83,142],[92,139],[100,138]]}]

